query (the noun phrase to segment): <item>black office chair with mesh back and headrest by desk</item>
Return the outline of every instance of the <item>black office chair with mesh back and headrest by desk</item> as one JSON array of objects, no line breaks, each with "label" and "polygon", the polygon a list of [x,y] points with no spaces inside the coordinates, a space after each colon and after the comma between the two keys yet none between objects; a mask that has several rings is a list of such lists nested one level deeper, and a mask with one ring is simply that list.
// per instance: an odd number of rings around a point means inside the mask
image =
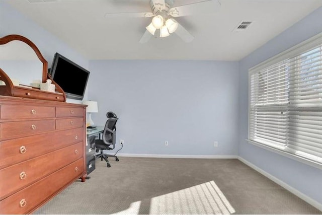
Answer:
[{"label": "black office chair with mesh back and headrest by desk", "polygon": [[98,154],[96,158],[101,157],[101,161],[103,161],[104,159],[107,163],[107,167],[111,167],[108,157],[114,157],[115,161],[119,161],[119,159],[117,158],[116,153],[114,155],[108,155],[108,154],[104,154],[103,150],[115,149],[115,137],[116,137],[115,125],[118,118],[116,114],[113,112],[107,112],[106,116],[108,120],[105,123],[102,139],[95,140],[96,152],[98,153],[101,151],[101,153]]}]

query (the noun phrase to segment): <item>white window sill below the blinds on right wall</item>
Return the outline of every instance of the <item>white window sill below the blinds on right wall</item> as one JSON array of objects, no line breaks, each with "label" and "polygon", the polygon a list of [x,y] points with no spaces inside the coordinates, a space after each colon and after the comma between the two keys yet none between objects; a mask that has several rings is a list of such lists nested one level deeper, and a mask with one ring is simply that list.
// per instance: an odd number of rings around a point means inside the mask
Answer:
[{"label": "white window sill below the blinds on right wall", "polygon": [[322,164],[246,139],[250,144],[322,170]]}]

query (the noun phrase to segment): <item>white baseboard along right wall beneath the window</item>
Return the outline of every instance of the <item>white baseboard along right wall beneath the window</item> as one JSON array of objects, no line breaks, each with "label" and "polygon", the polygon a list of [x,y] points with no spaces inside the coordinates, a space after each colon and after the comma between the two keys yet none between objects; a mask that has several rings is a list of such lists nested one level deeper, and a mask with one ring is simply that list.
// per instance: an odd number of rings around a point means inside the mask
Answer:
[{"label": "white baseboard along right wall beneath the window", "polygon": [[304,201],[306,201],[307,203],[309,203],[313,207],[316,207],[317,209],[322,211],[322,204],[321,203],[319,203],[319,202],[315,201],[314,199],[312,199],[311,197],[308,197],[307,195],[301,193],[297,189],[291,187],[290,185],[286,184],[285,182],[281,181],[280,179],[276,178],[275,176],[265,172],[264,170],[255,166],[254,164],[250,163],[249,161],[245,160],[244,158],[237,156],[237,159],[239,161],[243,162],[244,164],[250,166],[251,168],[253,168],[257,172],[261,173],[262,175],[266,176],[267,178],[271,179],[272,181],[274,181],[278,185],[284,187],[285,189],[287,189],[288,191],[290,191],[291,193],[293,193],[297,197],[303,199]]}]

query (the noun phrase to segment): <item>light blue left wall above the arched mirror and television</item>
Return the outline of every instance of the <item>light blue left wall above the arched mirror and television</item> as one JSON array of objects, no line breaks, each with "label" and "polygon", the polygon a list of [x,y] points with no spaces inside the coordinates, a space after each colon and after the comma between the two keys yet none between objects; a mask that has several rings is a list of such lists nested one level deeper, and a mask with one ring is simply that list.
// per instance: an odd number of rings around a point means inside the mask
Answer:
[{"label": "light blue left wall above the arched mirror and television", "polygon": [[[64,55],[84,68],[88,69],[89,67],[89,60],[84,56],[77,53],[55,35],[35,24],[35,22],[22,15],[10,5],[0,1],[0,37],[9,34],[25,36],[35,43],[41,54],[48,61],[48,67],[51,67],[56,52]],[[24,71],[22,71],[22,73],[24,73]],[[68,99],[67,101],[78,103],[77,100],[72,99]]]}]

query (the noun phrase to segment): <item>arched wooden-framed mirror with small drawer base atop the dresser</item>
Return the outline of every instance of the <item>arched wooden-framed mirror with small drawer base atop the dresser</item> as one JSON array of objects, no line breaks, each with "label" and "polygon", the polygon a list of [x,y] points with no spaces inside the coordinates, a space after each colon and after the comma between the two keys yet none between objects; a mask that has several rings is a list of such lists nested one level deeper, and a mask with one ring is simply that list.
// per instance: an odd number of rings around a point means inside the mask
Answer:
[{"label": "arched wooden-framed mirror with small drawer base atop the dresser", "polygon": [[[47,73],[48,63],[37,46],[21,35],[0,38],[0,95],[66,101],[64,91]],[[55,92],[40,90],[46,80]]]}]

